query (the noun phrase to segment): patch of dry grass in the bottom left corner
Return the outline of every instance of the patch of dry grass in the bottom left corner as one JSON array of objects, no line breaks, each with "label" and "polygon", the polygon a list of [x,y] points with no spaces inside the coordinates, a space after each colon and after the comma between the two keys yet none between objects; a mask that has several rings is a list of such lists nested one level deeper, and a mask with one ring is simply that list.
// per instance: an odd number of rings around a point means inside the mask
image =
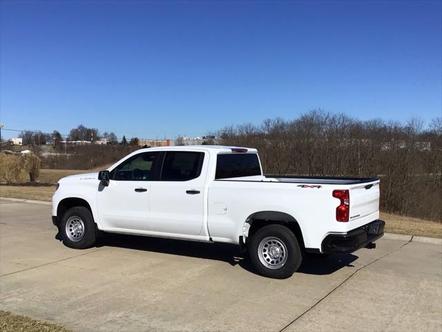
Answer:
[{"label": "patch of dry grass in the bottom left corner", "polygon": [[72,332],[63,326],[34,320],[9,311],[0,311],[0,331],[4,332]]}]

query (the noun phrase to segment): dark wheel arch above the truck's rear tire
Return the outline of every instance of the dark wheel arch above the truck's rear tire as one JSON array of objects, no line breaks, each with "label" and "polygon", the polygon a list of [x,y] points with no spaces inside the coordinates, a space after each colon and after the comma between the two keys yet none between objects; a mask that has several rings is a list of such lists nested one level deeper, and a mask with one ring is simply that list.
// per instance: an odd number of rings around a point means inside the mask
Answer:
[{"label": "dark wheel arch above the truck's rear tire", "polygon": [[251,237],[257,230],[265,225],[280,224],[285,225],[289,230],[294,232],[302,249],[305,248],[304,237],[298,221],[286,212],[280,211],[259,211],[249,215],[244,221],[242,234],[245,239]]}]

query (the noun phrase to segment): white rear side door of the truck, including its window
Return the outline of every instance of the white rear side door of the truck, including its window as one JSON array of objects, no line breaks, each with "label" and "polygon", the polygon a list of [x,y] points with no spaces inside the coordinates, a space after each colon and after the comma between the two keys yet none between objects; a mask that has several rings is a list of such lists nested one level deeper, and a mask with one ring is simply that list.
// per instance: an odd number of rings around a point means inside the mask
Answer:
[{"label": "white rear side door of the truck, including its window", "polygon": [[151,183],[151,231],[187,235],[202,232],[208,165],[207,152],[165,152],[160,181]]}]

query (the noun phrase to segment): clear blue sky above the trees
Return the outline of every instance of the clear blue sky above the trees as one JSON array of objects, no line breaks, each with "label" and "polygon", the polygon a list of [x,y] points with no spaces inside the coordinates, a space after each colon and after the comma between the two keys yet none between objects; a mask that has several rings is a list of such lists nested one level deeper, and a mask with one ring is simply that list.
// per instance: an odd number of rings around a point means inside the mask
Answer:
[{"label": "clear blue sky above the trees", "polygon": [[[441,1],[7,1],[0,121],[204,135],[311,109],[442,116]],[[2,132],[5,137],[16,133]]]}]

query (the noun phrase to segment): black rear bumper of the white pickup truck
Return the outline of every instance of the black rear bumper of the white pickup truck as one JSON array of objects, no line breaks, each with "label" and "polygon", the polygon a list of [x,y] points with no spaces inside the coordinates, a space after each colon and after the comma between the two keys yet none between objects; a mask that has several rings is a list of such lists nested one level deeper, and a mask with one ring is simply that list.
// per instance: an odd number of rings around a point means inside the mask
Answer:
[{"label": "black rear bumper of the white pickup truck", "polygon": [[347,233],[329,234],[321,244],[321,252],[343,254],[365,248],[368,243],[383,237],[384,226],[385,221],[375,220]]}]

